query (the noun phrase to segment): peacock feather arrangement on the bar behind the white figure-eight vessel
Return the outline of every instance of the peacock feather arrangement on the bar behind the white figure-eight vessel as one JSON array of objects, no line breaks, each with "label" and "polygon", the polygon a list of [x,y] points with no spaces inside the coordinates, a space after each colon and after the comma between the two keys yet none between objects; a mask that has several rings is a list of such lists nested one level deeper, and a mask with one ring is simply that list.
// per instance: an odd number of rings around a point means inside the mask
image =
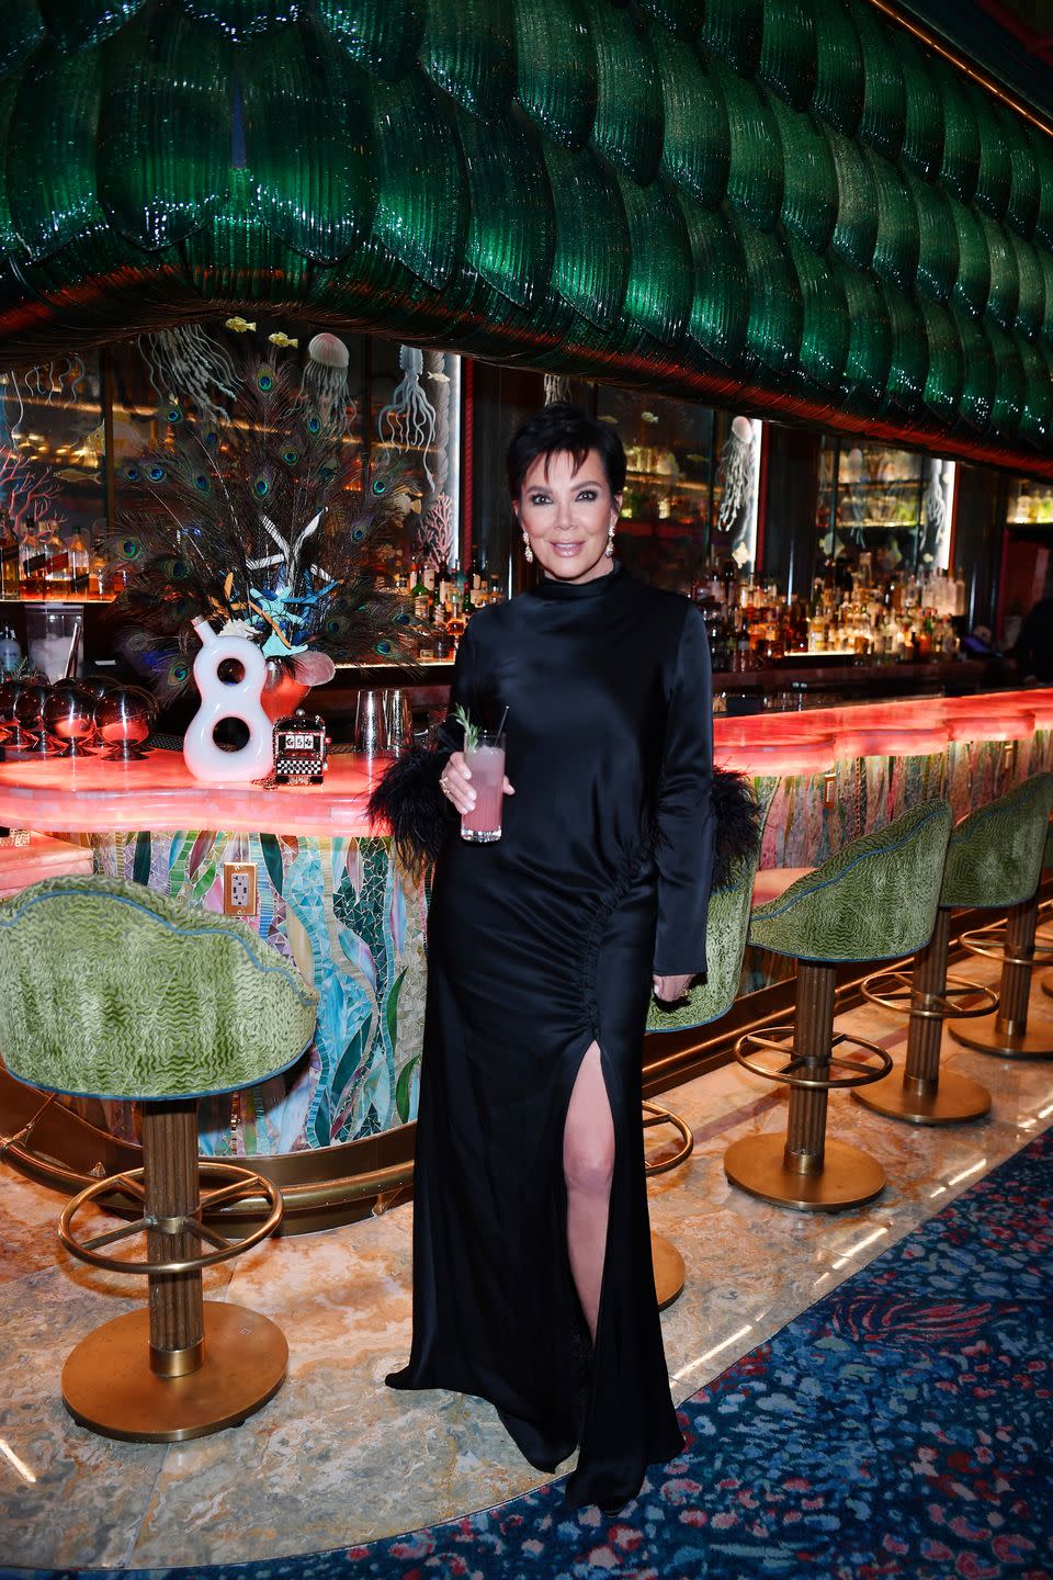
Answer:
[{"label": "peacock feather arrangement on the bar behind the white figure-eight vessel", "polygon": [[259,641],[303,684],[335,662],[412,664],[406,597],[377,589],[377,550],[420,490],[384,452],[368,469],[287,367],[246,360],[226,420],[163,404],[167,442],[122,466],[122,646],[161,700],[189,683],[205,618]]}]

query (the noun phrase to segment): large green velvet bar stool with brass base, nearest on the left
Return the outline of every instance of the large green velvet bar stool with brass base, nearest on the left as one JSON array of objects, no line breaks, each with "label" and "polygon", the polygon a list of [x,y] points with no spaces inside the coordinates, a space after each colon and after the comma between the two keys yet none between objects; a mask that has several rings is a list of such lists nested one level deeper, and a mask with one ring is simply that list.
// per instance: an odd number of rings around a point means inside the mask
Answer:
[{"label": "large green velvet bar stool with brass base, nearest on the left", "polygon": [[[76,1420],[112,1438],[171,1443],[235,1425],[284,1381],[289,1348],[265,1316],[202,1299],[202,1267],[272,1234],[281,1193],[251,1169],[204,1163],[197,1098],[264,1081],[308,1046],[317,995],[234,916],[115,878],[63,877],[0,904],[0,1054],[47,1092],[141,1104],[141,1169],[109,1176],[63,1210],[58,1234],[85,1262],[145,1273],[148,1308],[95,1329],[69,1354],[62,1392]],[[133,1223],[81,1239],[93,1199],[123,1198]],[[240,1240],[205,1209],[259,1199]],[[107,1255],[145,1232],[147,1259]]]}]

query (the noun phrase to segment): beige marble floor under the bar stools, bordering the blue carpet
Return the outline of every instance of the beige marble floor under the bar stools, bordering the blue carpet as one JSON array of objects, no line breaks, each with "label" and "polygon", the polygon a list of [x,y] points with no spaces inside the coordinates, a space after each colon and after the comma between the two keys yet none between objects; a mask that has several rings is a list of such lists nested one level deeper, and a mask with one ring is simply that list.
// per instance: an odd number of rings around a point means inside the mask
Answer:
[{"label": "beige marble floor under the bar stools, bordering the blue carpet", "polygon": [[[1053,1043],[1053,1000],[1037,988],[1031,1019]],[[838,1025],[848,1022],[901,1057],[895,1016],[865,1008]],[[685,1292],[663,1316],[677,1401],[1050,1125],[1053,1062],[991,1059],[949,1038],[944,1059],[991,1090],[988,1119],[914,1128],[832,1095],[830,1133],[864,1146],[889,1176],[876,1202],[838,1215],[769,1207],[725,1180],[731,1141],[785,1128],[778,1090],[733,1065],[661,1098],[696,1142],[688,1163],[650,1183],[654,1226],[687,1262]],[[655,1133],[649,1144],[661,1147]],[[93,1436],[62,1406],[62,1364],[136,1291],[60,1250],[58,1209],[55,1194],[0,1164],[0,1564],[279,1558],[414,1529],[541,1479],[488,1405],[382,1384],[409,1349],[412,1206],[265,1243],[207,1275],[208,1297],[264,1311],[289,1337],[284,1389],[242,1427],[171,1447]]]}]

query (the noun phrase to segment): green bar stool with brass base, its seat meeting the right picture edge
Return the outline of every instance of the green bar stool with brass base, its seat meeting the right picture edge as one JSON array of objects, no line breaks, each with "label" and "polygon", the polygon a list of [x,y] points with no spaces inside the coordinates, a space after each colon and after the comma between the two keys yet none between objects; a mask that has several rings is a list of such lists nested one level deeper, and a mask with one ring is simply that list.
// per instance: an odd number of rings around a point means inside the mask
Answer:
[{"label": "green bar stool with brass base, its seat meeting the right picture edge", "polygon": [[914,956],[912,972],[875,972],[862,984],[873,1003],[908,1014],[909,1030],[905,1068],[854,1092],[857,1103],[914,1125],[954,1125],[982,1119],[990,1111],[987,1087],[939,1068],[942,1022],[990,1016],[999,1008],[999,997],[991,988],[947,976],[950,913],[966,907],[1002,912],[1026,893],[1034,871],[1029,850],[1040,844],[1048,815],[1044,811],[1048,787],[1042,784],[1048,777],[1037,774],[1028,779],[969,812],[952,830],[936,926],[925,948]]}]

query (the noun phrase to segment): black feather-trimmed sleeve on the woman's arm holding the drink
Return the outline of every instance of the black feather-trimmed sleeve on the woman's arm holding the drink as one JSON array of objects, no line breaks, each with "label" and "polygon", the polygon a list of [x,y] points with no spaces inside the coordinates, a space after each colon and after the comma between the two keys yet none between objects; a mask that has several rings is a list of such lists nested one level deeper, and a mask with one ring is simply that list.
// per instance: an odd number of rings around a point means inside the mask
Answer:
[{"label": "black feather-trimmed sleeve on the woman's arm holding the drink", "polygon": [[453,809],[439,776],[453,752],[461,750],[463,730],[453,717],[459,705],[470,711],[475,692],[475,643],[470,627],[464,632],[453,665],[450,711],[439,725],[434,747],[414,747],[396,757],[369,796],[369,818],[387,823],[395,845],[407,863],[434,861],[453,822]]}]

